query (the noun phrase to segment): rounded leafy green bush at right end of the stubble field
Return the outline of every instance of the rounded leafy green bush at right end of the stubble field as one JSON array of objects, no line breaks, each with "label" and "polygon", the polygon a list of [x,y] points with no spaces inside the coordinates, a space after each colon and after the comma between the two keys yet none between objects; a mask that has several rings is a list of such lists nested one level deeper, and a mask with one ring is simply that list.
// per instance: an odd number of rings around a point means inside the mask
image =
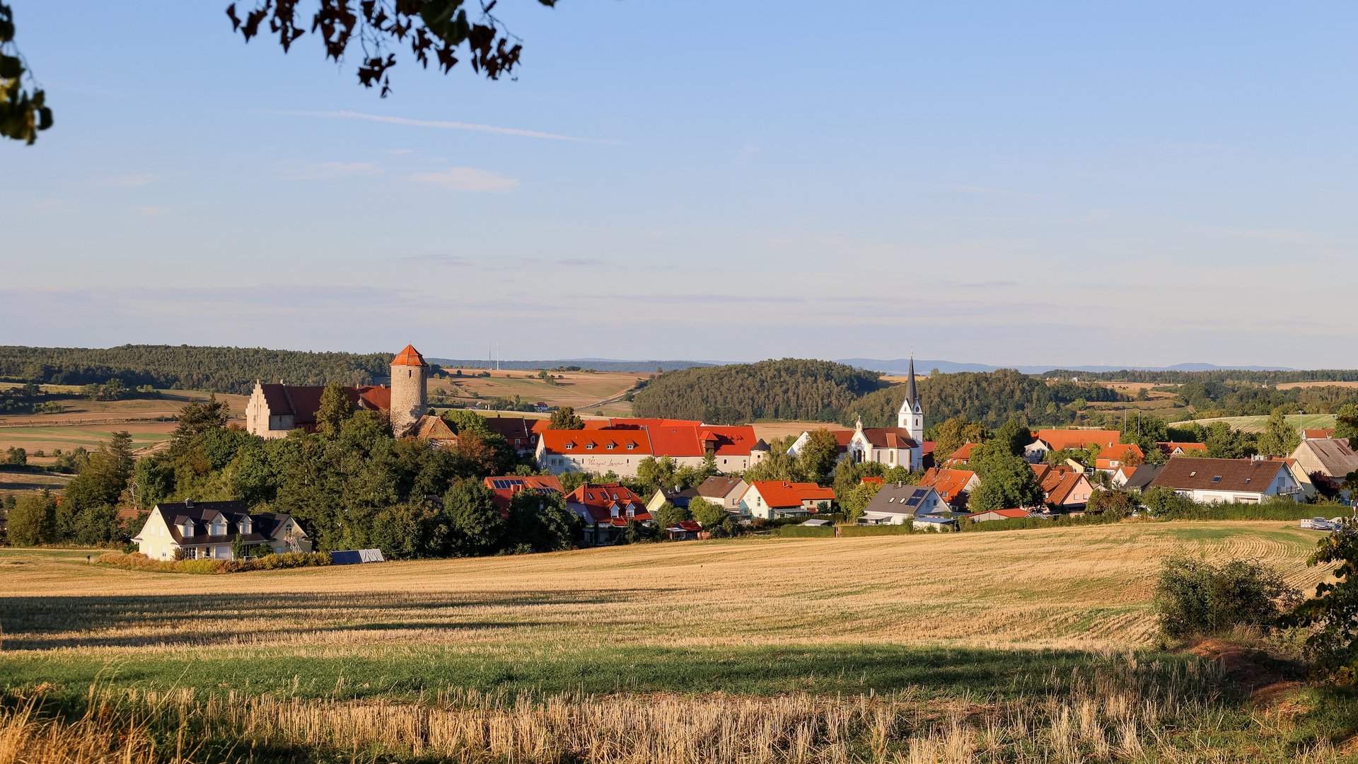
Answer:
[{"label": "rounded leafy green bush at right end of the stubble field", "polygon": [[1253,560],[1214,566],[1175,555],[1160,566],[1154,608],[1160,631],[1171,639],[1214,636],[1236,627],[1271,628],[1301,602],[1282,574]]}]

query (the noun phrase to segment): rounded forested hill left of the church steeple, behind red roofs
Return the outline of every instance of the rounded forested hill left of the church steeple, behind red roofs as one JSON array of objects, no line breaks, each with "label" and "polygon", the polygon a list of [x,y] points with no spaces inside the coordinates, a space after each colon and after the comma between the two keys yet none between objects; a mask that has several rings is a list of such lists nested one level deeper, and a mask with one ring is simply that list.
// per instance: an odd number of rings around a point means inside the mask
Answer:
[{"label": "rounded forested hill left of the church steeple, behind red roofs", "polygon": [[637,392],[636,416],[743,424],[756,419],[839,419],[883,386],[876,371],[828,360],[762,360],[667,371]]}]

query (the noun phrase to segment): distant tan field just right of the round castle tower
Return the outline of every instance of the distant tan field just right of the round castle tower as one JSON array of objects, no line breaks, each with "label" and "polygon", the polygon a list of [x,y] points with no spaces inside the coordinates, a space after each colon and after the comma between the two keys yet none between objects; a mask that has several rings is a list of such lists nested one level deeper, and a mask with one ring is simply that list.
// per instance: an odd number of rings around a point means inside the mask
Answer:
[{"label": "distant tan field just right of the round castle tower", "polygon": [[[469,370],[479,374],[483,370]],[[534,377],[536,371],[492,371],[490,377],[445,377],[429,381],[430,402],[437,402],[439,394],[469,400],[471,393],[481,398],[519,396],[524,401],[542,401],[553,406],[585,408],[600,401],[621,397],[640,379],[650,374],[623,371],[558,371],[561,375],[553,385]],[[630,404],[622,402],[630,411]]]}]

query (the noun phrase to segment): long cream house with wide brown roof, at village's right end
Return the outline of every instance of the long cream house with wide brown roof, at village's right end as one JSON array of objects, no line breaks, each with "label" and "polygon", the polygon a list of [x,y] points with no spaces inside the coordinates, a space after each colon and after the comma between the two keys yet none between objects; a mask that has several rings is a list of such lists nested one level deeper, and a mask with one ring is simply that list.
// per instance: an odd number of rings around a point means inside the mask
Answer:
[{"label": "long cream house with wide brown roof, at village's right end", "polygon": [[1301,487],[1287,465],[1270,459],[1210,459],[1172,457],[1152,488],[1172,488],[1194,502],[1258,504],[1270,496],[1296,500]]}]

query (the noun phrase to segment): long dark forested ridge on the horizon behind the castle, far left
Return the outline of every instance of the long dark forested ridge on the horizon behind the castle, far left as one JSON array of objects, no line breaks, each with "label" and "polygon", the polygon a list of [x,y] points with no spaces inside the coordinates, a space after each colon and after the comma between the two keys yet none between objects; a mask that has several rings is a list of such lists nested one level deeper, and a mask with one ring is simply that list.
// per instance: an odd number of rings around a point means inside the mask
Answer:
[{"label": "long dark forested ridge on the horizon behind the castle, far left", "polygon": [[255,379],[289,385],[372,385],[390,375],[392,353],[314,353],[265,348],[0,345],[0,381],[87,385],[117,377],[129,387],[249,394]]}]

